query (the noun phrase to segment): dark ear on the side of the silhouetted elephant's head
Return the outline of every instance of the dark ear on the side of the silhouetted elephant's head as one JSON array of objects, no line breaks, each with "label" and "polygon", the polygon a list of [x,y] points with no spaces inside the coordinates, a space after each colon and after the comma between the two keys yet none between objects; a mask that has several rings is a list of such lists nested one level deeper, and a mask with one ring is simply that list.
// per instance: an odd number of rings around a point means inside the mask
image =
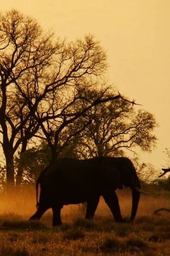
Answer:
[{"label": "dark ear on the side of the silhouetted elephant's head", "polygon": [[102,172],[102,184],[109,190],[116,190],[116,188],[122,189],[121,174],[117,168],[105,168]]}]

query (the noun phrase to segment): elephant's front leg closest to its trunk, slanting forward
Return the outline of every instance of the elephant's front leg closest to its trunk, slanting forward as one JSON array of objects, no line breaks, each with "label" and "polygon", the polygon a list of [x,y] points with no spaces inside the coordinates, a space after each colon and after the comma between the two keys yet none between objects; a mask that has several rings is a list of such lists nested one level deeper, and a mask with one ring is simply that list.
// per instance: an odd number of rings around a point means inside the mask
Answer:
[{"label": "elephant's front leg closest to its trunk, slanting forward", "polygon": [[122,215],[121,215],[121,210],[119,208],[119,203],[118,203],[118,198],[117,198],[117,194],[114,191],[111,192],[105,192],[103,194],[104,200],[106,202],[106,204],[108,204],[112,215],[115,218],[116,222],[122,222]]}]

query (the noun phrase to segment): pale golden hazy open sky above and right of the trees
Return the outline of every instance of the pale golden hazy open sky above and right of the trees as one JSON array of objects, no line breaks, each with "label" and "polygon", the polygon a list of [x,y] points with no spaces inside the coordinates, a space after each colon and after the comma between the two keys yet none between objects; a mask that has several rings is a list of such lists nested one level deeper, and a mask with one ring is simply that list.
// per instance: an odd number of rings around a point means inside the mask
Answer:
[{"label": "pale golden hazy open sky above and right of the trees", "polygon": [[142,160],[161,168],[170,148],[169,0],[0,0],[68,40],[93,34],[108,54],[108,81],[155,114],[159,141]]}]

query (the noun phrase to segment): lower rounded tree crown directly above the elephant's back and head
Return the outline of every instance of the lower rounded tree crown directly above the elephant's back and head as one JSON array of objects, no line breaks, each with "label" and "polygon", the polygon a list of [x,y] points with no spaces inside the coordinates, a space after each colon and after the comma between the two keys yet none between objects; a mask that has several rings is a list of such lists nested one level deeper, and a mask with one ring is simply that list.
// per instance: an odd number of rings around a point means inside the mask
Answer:
[{"label": "lower rounded tree crown directly above the elephant's back and head", "polygon": [[135,111],[121,98],[91,108],[70,130],[77,131],[83,124],[87,125],[77,136],[79,143],[75,148],[83,158],[124,155],[125,150],[136,147],[150,151],[156,143],[154,116],[147,111]]}]

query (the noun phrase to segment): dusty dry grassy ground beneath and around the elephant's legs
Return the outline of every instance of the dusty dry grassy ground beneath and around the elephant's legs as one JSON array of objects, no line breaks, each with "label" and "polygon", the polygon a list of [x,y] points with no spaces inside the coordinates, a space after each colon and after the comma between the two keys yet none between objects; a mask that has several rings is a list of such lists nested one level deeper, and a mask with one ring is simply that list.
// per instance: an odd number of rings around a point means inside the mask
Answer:
[{"label": "dusty dry grassy ground beneath and around the elephant's legs", "polygon": [[[119,192],[123,217],[130,215],[129,191]],[[86,221],[78,206],[65,206],[63,225],[52,228],[52,214],[48,211],[40,222],[28,222],[35,211],[30,196],[0,198],[0,255],[170,255],[170,214],[153,215],[157,208],[170,208],[166,193],[142,196],[136,220],[117,224],[108,207],[100,200],[93,221]],[[13,210],[13,211],[12,211]]]}]

